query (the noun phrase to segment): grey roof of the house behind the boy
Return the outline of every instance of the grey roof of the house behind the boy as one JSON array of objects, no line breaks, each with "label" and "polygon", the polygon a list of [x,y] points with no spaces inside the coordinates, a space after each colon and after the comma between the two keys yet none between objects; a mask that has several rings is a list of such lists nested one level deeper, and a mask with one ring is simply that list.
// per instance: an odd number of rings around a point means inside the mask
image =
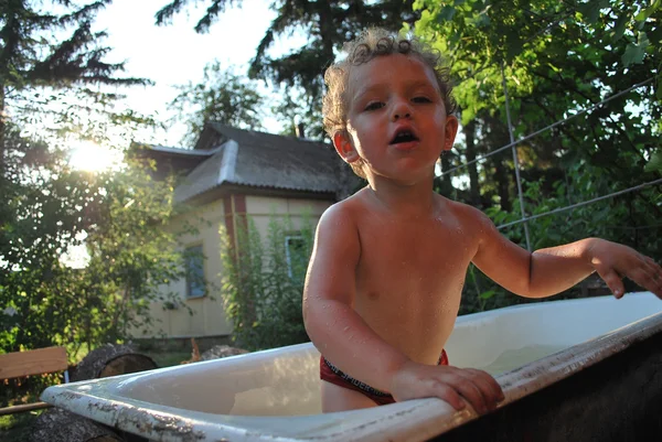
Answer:
[{"label": "grey roof of the house behind the boy", "polygon": [[339,162],[330,144],[207,123],[193,150],[151,147],[154,157],[195,158],[174,190],[183,203],[225,184],[335,194]]}]

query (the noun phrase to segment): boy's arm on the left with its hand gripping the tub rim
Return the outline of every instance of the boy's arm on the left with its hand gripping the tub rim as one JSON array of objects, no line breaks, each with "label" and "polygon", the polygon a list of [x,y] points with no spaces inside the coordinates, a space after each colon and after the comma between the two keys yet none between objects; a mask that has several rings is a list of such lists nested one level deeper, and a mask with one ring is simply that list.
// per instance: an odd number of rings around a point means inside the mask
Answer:
[{"label": "boy's arm on the left with its hand gripping the tub rim", "polygon": [[353,310],[361,247],[348,212],[332,206],[318,225],[303,289],[303,322],[314,346],[341,370],[396,400],[439,397],[459,410],[465,398],[479,413],[495,408],[503,394],[487,373],[416,364]]}]

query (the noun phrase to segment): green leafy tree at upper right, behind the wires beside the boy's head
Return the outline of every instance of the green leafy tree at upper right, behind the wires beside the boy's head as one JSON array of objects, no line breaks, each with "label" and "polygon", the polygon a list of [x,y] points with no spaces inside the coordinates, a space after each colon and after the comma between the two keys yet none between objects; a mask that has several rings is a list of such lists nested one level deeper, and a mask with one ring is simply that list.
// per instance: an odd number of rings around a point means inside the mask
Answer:
[{"label": "green leafy tree at upper right, behind the wires beside the boy's head", "polygon": [[[654,76],[662,60],[660,45],[651,44],[662,39],[662,30],[655,25],[660,2],[598,3],[416,3],[423,9],[417,33],[449,54],[452,62],[462,122],[476,118],[477,147],[485,151],[488,134],[493,140],[495,132],[508,133],[508,128],[498,128],[505,125],[502,68],[515,139],[545,126],[542,122],[564,119]],[[651,85],[521,143],[520,151],[526,150],[525,157],[538,165],[546,163],[551,173],[555,173],[554,166],[563,169],[587,159],[608,168],[623,185],[631,185],[640,180],[647,159],[660,145],[659,125],[647,123],[649,118],[660,121],[661,115]],[[509,141],[499,138],[498,144]],[[499,157],[501,160],[491,159],[490,163],[495,164],[503,200],[503,190],[512,184],[499,176],[505,176],[504,165],[512,169],[514,164],[505,155]],[[533,163],[522,165],[532,168]]]}]

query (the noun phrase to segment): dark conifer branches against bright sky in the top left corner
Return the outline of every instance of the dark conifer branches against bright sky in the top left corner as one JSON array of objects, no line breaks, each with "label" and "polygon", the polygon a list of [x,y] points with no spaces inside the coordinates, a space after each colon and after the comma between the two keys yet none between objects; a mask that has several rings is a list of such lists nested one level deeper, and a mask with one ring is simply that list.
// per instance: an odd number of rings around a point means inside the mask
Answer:
[{"label": "dark conifer branches against bright sky in the top left corner", "polygon": [[[0,137],[4,133],[8,109],[18,123],[22,111],[32,114],[35,103],[53,101],[56,97],[52,94],[56,90],[78,87],[81,97],[100,103],[115,95],[93,91],[87,86],[149,84],[142,78],[116,77],[114,75],[124,69],[124,63],[104,62],[109,48],[99,42],[106,33],[92,32],[92,23],[96,13],[110,2],[98,0],[77,7],[68,0],[53,0],[64,10],[60,14],[41,12],[32,2],[4,2],[0,11],[3,42],[0,47]],[[57,33],[70,34],[58,40]],[[57,112],[61,119],[71,116],[71,109]]]}]

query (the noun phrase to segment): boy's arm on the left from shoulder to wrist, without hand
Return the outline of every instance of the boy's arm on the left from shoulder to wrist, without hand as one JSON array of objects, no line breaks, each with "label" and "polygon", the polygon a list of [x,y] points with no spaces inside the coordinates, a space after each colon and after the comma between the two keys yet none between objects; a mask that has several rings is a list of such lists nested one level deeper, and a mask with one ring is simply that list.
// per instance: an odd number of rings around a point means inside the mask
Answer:
[{"label": "boy's arm on the left from shoulder to wrist, without hand", "polygon": [[348,212],[335,205],[320,218],[303,289],[303,322],[324,357],[352,377],[388,390],[393,371],[407,357],[352,308],[361,247]]}]

